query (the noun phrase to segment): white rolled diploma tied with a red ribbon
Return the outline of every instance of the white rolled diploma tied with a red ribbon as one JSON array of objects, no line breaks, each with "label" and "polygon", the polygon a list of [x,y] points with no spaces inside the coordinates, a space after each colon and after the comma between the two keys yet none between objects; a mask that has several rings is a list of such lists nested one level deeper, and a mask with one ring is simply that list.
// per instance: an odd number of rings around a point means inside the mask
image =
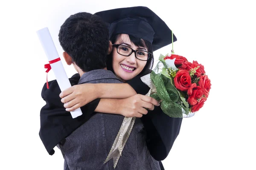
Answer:
[{"label": "white rolled diploma tied with a red ribbon", "polygon": [[[42,28],[36,32],[37,32],[38,38],[44,48],[44,52],[47,55],[48,61],[59,58],[58,52],[57,52],[54,42],[52,40],[49,29],[46,27],[46,28]],[[71,84],[67,77],[66,71],[64,70],[62,62],[58,61],[58,62],[52,63],[50,65],[54,72],[54,75],[56,77],[56,80],[58,82],[58,85],[59,85],[61,91],[64,91],[65,89],[70,88]],[[75,111],[71,111],[70,113],[71,113],[72,118],[76,118],[76,117],[82,115],[82,111],[80,108],[76,109]]]}]

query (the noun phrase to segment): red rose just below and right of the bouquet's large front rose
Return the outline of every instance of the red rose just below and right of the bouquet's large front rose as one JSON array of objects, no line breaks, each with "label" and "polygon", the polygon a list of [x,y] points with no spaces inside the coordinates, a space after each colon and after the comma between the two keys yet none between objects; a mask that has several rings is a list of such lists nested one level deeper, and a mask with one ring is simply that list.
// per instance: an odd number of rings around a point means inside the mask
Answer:
[{"label": "red rose just below and right of the bouquet's large front rose", "polygon": [[189,103],[189,105],[196,105],[198,103],[198,99],[201,99],[203,94],[203,88],[201,88],[200,86],[196,86],[196,84],[193,83],[188,90],[189,98],[187,102]]}]

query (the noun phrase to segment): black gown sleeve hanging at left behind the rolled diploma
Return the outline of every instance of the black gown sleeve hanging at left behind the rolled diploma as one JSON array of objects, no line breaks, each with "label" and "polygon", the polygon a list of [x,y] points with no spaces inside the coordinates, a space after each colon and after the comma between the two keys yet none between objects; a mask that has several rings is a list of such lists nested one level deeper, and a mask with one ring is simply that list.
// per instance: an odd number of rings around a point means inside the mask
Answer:
[{"label": "black gown sleeve hanging at left behind the rolled diploma", "polygon": [[[80,79],[79,74],[73,75],[70,80],[71,85],[77,85]],[[99,104],[100,99],[95,99],[81,107],[82,115],[73,119],[70,112],[67,112],[59,94],[61,89],[56,80],[50,81],[49,89],[46,83],[41,92],[41,97],[46,102],[40,111],[39,136],[49,155],[54,154],[53,148],[64,138],[69,136],[74,130],[90,119],[90,116]]]}]

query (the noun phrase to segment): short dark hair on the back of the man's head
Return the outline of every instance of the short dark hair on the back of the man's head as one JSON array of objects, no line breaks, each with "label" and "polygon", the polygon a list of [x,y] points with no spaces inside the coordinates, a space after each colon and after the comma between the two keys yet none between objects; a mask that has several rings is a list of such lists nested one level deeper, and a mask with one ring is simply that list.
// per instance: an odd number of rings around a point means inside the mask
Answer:
[{"label": "short dark hair on the back of the man's head", "polygon": [[63,50],[82,71],[106,67],[108,27],[99,16],[87,12],[70,15],[62,24],[58,37]]}]

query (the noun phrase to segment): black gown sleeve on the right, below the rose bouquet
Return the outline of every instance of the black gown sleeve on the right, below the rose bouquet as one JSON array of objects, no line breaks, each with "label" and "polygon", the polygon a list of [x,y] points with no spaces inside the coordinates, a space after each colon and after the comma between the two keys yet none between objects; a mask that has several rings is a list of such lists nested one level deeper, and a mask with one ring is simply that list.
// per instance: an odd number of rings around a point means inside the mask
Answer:
[{"label": "black gown sleeve on the right, below the rose bouquet", "polygon": [[[145,85],[137,76],[127,83],[137,92],[137,94],[147,94],[149,87]],[[161,110],[160,106],[155,106],[153,111],[141,118],[147,132],[146,143],[151,156],[157,161],[162,161],[168,156],[172,145],[175,142],[182,122],[182,118],[169,117]]]}]

